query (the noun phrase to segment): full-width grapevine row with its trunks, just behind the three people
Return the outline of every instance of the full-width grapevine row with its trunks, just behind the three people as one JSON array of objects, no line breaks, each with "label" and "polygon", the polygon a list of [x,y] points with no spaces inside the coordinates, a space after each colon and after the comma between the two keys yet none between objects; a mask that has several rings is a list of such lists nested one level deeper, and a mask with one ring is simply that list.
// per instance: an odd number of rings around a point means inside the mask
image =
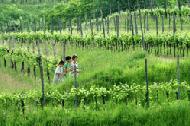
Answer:
[{"label": "full-width grapevine row with its trunks, just behind the three people", "polygon": [[173,49],[174,55],[177,50],[183,52],[189,52],[190,48],[190,35],[188,33],[175,35],[171,33],[164,33],[160,35],[146,34],[141,35],[122,35],[121,37],[110,36],[110,37],[99,37],[99,36],[74,36],[61,33],[51,34],[49,32],[24,32],[24,33],[7,33],[1,34],[0,39],[2,41],[15,40],[22,43],[34,43],[36,41],[50,42],[55,41],[56,43],[70,43],[76,47],[99,47],[109,50],[129,50],[133,47],[144,47],[149,52],[151,49],[155,49],[155,52],[161,52],[167,50],[171,53]]}]

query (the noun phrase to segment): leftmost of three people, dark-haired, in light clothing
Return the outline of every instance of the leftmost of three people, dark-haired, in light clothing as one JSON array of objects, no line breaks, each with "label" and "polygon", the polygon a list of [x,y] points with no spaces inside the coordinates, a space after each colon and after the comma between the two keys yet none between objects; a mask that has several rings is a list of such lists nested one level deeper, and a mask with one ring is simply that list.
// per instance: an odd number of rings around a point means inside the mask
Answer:
[{"label": "leftmost of three people, dark-haired, in light clothing", "polygon": [[64,61],[61,60],[59,64],[57,65],[57,68],[55,69],[55,75],[53,82],[54,83],[59,83],[63,80],[63,66],[64,66]]}]

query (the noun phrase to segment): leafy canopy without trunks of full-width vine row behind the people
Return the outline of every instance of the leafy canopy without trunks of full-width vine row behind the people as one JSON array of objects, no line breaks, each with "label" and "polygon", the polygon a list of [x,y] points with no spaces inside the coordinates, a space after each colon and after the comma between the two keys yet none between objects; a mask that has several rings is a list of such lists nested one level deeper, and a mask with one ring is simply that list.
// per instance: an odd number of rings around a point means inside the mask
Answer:
[{"label": "leafy canopy without trunks of full-width vine row behind the people", "polygon": [[[71,44],[75,44],[79,47],[86,47],[89,45],[93,45],[94,47],[104,47],[106,49],[113,49],[118,46],[119,49],[126,49],[128,46],[141,45],[142,44],[142,37],[140,35],[122,35],[121,37],[117,38],[116,36],[110,36],[103,38],[101,36],[87,36],[87,37],[79,37],[76,35],[67,35],[64,33],[57,33],[50,34],[49,32],[23,32],[23,33],[6,33],[0,34],[1,40],[8,40],[8,39],[16,39],[22,42],[25,41],[47,41],[47,40],[55,40],[56,42],[70,42]],[[187,44],[190,43],[190,36],[187,32],[180,32],[173,35],[172,33],[163,33],[154,35],[154,34],[146,34],[144,36],[145,44],[149,44],[151,46],[157,45],[164,45],[170,46],[177,45],[177,47],[186,47]]]}]

